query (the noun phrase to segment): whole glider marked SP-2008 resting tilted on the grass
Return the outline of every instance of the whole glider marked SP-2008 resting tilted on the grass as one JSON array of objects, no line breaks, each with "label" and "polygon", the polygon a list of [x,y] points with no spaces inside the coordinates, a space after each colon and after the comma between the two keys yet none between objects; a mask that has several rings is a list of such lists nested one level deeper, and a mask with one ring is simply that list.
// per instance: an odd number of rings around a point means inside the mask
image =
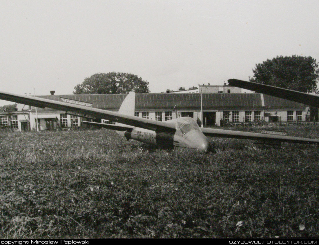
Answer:
[{"label": "whole glider marked SP-2008 resting tilted on the grass", "polygon": [[164,147],[184,147],[206,152],[209,148],[207,136],[319,144],[318,139],[311,138],[199,128],[196,121],[191,117],[180,117],[165,122],[137,117],[134,116],[134,92],[131,92],[126,96],[119,112],[5,92],[0,92],[0,99],[40,108],[48,107],[57,109],[71,115],[106,119],[115,122],[115,125],[93,122],[83,123],[116,130],[119,135],[126,137],[127,140],[135,139],[147,144]]}]

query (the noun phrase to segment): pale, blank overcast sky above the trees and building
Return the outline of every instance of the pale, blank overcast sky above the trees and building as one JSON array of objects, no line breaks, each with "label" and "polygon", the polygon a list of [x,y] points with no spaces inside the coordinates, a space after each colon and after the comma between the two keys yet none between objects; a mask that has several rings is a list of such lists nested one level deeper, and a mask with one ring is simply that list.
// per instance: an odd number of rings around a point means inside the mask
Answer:
[{"label": "pale, blank overcast sky above the trees and building", "polygon": [[247,80],[276,56],[319,61],[318,13],[318,0],[0,0],[0,91],[72,94],[112,71],[152,93]]}]

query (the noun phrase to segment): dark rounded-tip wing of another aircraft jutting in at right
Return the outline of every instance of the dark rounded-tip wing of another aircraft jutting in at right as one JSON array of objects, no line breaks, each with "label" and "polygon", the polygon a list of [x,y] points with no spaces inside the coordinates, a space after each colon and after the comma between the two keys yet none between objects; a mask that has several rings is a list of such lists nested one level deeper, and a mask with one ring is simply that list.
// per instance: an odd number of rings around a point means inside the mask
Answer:
[{"label": "dark rounded-tip wing of another aircraft jutting in at right", "polygon": [[261,83],[253,83],[238,79],[229,79],[228,84],[235,87],[249,89],[257,93],[264,93],[278,98],[292,100],[309,106],[319,107],[319,96],[314,94],[302,93],[285,88],[274,87]]}]

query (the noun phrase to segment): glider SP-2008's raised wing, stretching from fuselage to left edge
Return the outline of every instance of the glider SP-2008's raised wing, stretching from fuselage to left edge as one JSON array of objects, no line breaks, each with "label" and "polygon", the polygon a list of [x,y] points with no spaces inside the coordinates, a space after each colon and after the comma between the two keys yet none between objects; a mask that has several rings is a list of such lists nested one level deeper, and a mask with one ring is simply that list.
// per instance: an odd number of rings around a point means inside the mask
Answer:
[{"label": "glider SP-2008's raised wing, stretching from fuselage to left edge", "polygon": [[38,97],[31,97],[13,93],[0,92],[0,100],[9,100],[12,102],[36,106],[40,108],[52,108],[66,113],[74,113],[83,117],[94,117],[97,119],[106,119],[112,122],[123,123],[126,125],[139,127],[143,129],[149,129],[154,131],[174,131],[175,125],[170,122],[153,121],[146,118],[137,116],[125,115],[118,112],[102,110],[98,108],[86,107],[77,104],[70,104],[67,102],[48,100]]}]

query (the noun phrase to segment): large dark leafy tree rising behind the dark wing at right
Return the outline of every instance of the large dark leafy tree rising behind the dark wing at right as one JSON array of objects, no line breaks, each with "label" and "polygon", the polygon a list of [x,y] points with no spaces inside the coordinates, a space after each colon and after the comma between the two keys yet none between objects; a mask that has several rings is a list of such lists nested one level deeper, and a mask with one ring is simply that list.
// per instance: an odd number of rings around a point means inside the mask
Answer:
[{"label": "large dark leafy tree rising behind the dark wing at right", "polygon": [[311,56],[277,56],[256,64],[249,81],[287,88],[304,93],[318,93],[318,63]]}]

